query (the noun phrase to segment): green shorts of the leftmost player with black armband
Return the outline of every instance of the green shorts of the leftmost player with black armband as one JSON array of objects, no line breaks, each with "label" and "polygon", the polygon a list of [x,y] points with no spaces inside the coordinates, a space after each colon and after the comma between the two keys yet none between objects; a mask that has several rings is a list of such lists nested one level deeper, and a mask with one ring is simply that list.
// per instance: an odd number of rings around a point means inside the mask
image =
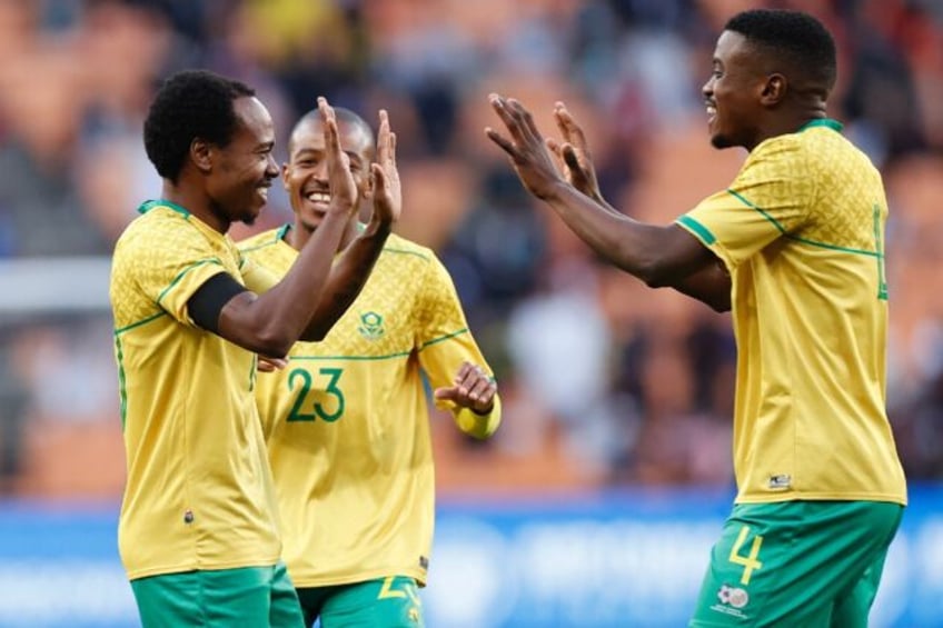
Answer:
[{"label": "green shorts of the leftmost player with black armband", "polygon": [[182,571],[131,580],[145,628],[300,628],[301,607],[285,565]]}]

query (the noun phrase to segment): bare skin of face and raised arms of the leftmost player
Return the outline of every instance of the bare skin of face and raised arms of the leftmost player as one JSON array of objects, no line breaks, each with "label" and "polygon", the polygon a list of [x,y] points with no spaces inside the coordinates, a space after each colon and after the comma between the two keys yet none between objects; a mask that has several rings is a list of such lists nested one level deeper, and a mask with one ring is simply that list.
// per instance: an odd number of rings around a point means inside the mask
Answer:
[{"label": "bare skin of face and raised arms of the leftmost player", "polygon": [[[361,235],[365,246],[351,247],[348,251],[350,262],[346,265],[346,272],[334,281],[328,279],[334,251],[356,211],[356,188],[347,158],[340,150],[334,110],[325,99],[318,99],[318,107],[324,120],[325,143],[329,147],[328,172],[332,191],[322,228],[271,290],[265,295],[239,293],[219,315],[219,336],[262,356],[284,357],[299,339],[324,338],[346,309],[344,298],[332,299],[331,290],[363,286],[399,216],[398,206],[383,205],[374,230]],[[244,97],[234,101],[234,109],[238,126],[232,141],[219,147],[195,139],[178,181],[165,180],[162,191],[163,198],[186,207],[221,233],[237,220],[255,220],[267,200],[271,180],[278,176],[271,157],[274,124],[265,106],[254,97]],[[385,188],[387,172],[380,169],[376,176]],[[329,295],[329,302],[335,307],[318,312],[317,307],[325,295]]]}]

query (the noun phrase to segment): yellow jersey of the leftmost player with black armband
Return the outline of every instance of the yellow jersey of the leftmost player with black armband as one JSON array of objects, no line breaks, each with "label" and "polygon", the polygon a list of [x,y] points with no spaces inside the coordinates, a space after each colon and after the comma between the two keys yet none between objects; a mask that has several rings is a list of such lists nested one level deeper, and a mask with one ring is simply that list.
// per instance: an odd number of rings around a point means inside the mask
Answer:
[{"label": "yellow jersey of the leftmost player with black armband", "polygon": [[257,291],[271,277],[183,208],[151,201],[141,211],[115,248],[110,287],[128,466],[125,568],[133,580],[275,565],[281,545],[255,356],[187,313],[217,273]]}]

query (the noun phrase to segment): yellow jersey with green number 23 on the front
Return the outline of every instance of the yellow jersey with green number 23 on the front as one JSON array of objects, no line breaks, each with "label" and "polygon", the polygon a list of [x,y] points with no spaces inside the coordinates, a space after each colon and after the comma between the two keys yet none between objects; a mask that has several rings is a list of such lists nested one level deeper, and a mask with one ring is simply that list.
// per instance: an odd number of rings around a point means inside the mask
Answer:
[{"label": "yellow jersey with green number 23 on the front", "polygon": [[[284,275],[288,227],[240,243]],[[393,235],[361,293],[322,342],[298,342],[260,373],[266,430],[296,587],[409,576],[425,582],[435,478],[425,371],[451,386],[463,361],[487,369],[451,279],[435,255]],[[465,412],[455,412],[465,431]],[[496,398],[490,428],[499,420]]]}]

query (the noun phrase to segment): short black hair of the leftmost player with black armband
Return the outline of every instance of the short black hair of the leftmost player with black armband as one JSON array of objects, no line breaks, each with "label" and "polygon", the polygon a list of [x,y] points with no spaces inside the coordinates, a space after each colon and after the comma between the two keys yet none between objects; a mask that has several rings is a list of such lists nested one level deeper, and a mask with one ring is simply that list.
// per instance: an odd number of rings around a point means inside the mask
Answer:
[{"label": "short black hair of the leftmost player with black armband", "polygon": [[255,94],[249,86],[209,70],[168,78],[145,119],[145,150],[158,175],[176,183],[196,138],[227,146],[237,124],[232,101]]}]

